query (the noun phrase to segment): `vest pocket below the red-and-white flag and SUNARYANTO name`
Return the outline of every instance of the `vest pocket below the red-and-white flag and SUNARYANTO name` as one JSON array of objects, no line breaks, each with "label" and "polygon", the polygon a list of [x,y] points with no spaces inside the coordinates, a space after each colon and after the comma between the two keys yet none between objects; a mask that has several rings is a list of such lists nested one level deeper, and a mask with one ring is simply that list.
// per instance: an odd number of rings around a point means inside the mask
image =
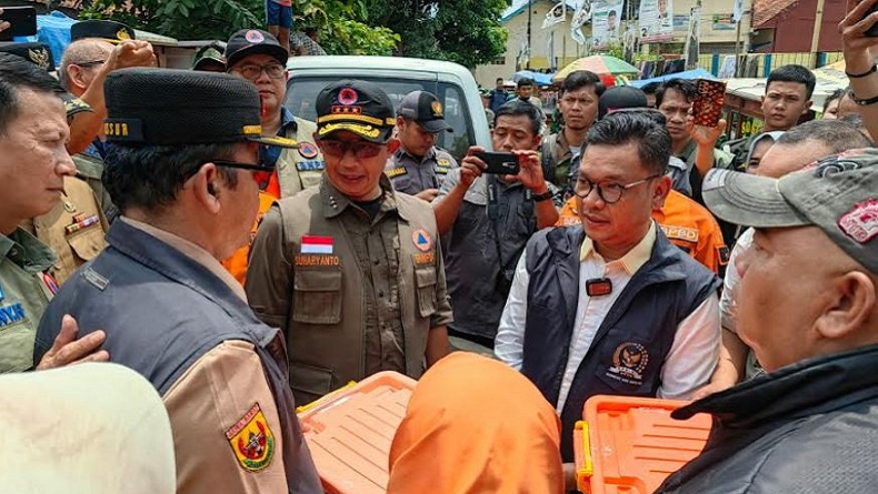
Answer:
[{"label": "vest pocket below the red-and-white flag and SUNARYANTO name", "polygon": [[338,324],[341,321],[340,269],[296,269],[292,320],[305,324]]}]

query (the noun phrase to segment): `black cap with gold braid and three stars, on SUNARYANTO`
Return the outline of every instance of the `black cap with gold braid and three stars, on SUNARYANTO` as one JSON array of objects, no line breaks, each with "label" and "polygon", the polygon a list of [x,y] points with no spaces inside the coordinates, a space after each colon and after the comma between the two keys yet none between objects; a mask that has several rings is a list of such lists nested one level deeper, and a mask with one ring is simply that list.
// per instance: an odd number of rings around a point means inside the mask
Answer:
[{"label": "black cap with gold braid and three stars, on SUNARYANTO", "polygon": [[367,141],[383,143],[396,125],[393,103],[377,84],[367,81],[333,82],[317,95],[317,135],[327,139],[333,132],[352,132]]}]

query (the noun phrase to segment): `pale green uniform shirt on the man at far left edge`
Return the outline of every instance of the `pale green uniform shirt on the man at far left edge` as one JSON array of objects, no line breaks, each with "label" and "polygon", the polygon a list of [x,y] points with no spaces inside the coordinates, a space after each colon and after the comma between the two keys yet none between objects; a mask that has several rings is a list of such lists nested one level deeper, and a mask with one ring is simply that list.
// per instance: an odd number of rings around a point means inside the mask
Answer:
[{"label": "pale green uniform shirt on the man at far left edge", "polygon": [[24,230],[0,234],[0,373],[33,367],[37,325],[58,290],[44,274],[52,264],[51,249]]}]

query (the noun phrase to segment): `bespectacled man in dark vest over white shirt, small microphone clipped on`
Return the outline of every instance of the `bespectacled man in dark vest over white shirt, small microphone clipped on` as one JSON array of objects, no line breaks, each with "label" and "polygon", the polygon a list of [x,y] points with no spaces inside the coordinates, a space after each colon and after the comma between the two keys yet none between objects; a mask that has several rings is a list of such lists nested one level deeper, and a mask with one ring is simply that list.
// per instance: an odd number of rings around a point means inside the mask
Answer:
[{"label": "bespectacled man in dark vest over white shirt, small microphone clipped on", "polygon": [[719,355],[719,280],[671,244],[661,206],[670,137],[640,112],[597,122],[576,182],[580,226],[548,229],[518,264],[497,355],[561,416],[561,455],[596,394],[685,400]]}]

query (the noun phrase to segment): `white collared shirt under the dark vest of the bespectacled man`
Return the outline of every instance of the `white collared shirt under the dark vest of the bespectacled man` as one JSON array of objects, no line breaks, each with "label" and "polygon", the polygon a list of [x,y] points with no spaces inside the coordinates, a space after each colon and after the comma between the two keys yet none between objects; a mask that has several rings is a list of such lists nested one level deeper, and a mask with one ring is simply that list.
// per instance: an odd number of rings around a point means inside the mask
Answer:
[{"label": "white collared shirt under the dark vest of the bespectacled man", "polygon": [[[590,239],[586,238],[582,242],[579,265],[580,296],[556,406],[558,413],[563,410],[576,372],[588,353],[603,317],[633,274],[649,260],[655,242],[655,222],[640,243],[616,261],[606,262],[595,251]],[[526,258],[527,253],[522,254],[516,268],[516,278],[500,317],[495,343],[497,356],[519,371],[523,361],[527,293],[530,283]],[[612,292],[609,295],[593,299],[588,296],[585,290],[586,280],[596,278],[608,278],[612,281]],[[711,294],[677,326],[674,343],[661,366],[658,396],[686,400],[695,390],[707,383],[719,359],[719,298]]]}]

